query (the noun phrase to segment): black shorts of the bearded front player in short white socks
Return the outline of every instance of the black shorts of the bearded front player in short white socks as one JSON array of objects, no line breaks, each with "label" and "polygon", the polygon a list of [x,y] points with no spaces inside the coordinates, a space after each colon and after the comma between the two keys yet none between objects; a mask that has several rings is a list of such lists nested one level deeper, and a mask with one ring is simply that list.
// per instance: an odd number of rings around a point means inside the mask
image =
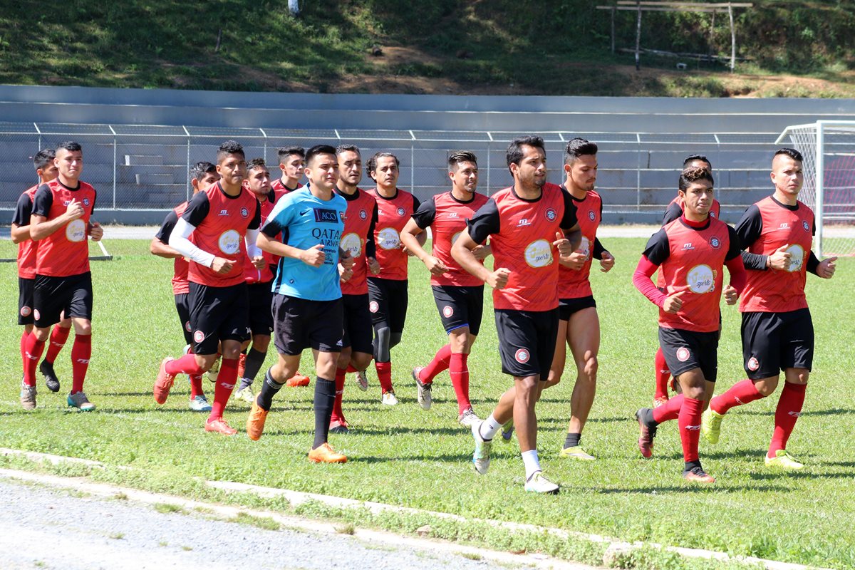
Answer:
[{"label": "black shorts of the bearded front player in short white socks", "polygon": [[540,376],[544,382],[549,379],[558,336],[558,309],[496,309],[496,332],[502,372],[517,377]]}]

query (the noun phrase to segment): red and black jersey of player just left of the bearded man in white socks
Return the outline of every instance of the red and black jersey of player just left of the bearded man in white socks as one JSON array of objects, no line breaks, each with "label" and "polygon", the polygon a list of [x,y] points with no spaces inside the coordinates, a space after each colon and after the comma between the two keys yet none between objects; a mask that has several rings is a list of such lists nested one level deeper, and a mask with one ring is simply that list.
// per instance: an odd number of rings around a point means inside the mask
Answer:
[{"label": "red and black jersey of player just left of the bearded man in white socks", "polygon": [[431,285],[455,285],[457,287],[472,287],[484,285],[481,279],[469,273],[451,257],[451,245],[466,229],[466,223],[475,215],[488,198],[477,192],[462,202],[451,192],[437,194],[427,202],[423,202],[413,214],[416,226],[423,229],[430,226],[432,236],[433,256],[442,261],[448,271],[441,275],[431,274]]}]

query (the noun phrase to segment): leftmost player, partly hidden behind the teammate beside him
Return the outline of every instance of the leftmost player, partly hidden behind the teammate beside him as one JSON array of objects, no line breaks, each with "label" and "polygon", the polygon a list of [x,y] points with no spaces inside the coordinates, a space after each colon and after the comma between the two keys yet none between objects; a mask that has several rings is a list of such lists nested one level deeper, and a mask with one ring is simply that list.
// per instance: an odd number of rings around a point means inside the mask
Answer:
[{"label": "leftmost player, partly hidden behind the teammate beside him", "polygon": [[[35,196],[39,185],[47,184],[56,179],[56,152],[53,149],[39,150],[32,157],[32,165],[36,168],[39,184],[32,186],[21,194],[15,206],[15,217],[12,220],[12,243],[18,244],[18,324],[24,326],[21,334],[21,361],[27,364],[25,350],[27,338],[32,334],[32,290],[36,279],[36,242],[30,239],[30,216],[32,214],[32,197]],[[68,340],[71,330],[71,319],[59,321],[50,331],[50,344],[44,360],[38,365],[38,371],[44,376],[44,385],[52,392],[59,391],[59,379],[54,372],[53,363],[62,347]],[[21,385],[21,406],[24,409],[36,407],[36,386]]]}]

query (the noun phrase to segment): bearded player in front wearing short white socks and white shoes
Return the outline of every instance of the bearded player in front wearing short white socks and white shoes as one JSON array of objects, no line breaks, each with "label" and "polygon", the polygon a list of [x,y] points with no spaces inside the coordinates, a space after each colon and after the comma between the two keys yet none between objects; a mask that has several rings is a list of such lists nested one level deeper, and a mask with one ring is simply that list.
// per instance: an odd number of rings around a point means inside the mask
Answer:
[{"label": "bearded player in front wearing short white socks and white shoes", "polygon": [[[502,372],[514,379],[492,414],[472,424],[472,462],[478,473],[486,473],[492,438],[513,418],[526,470],[526,491],[556,493],[558,485],[541,473],[534,405],[540,396],[540,380],[549,375],[558,330],[554,252],[568,261],[581,243],[581,232],[569,194],[546,183],[543,138],[515,138],[508,146],[507,163],[514,185],[493,194],[451,246],[451,255],[460,266],[493,289]],[[495,258],[493,271],[474,253],[487,238]]]}]

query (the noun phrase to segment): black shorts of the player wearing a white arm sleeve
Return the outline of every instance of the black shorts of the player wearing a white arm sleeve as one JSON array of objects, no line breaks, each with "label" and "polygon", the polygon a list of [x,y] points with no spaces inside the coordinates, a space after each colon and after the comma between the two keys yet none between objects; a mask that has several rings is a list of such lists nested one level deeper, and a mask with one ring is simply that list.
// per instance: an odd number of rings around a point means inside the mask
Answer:
[{"label": "black shorts of the player wearing a white arm sleeve", "polygon": [[213,355],[223,340],[243,343],[250,338],[247,315],[250,299],[246,284],[210,287],[190,283],[190,324],[193,327],[193,352]]}]

